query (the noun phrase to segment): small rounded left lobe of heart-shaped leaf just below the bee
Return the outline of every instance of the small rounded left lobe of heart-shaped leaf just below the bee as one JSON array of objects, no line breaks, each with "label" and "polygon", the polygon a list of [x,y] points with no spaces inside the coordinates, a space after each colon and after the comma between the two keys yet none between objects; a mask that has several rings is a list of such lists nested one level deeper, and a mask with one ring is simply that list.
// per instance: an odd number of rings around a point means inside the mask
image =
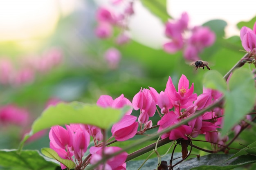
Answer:
[{"label": "small rounded left lobe of heart-shaped leaf just below the bee", "polygon": [[223,76],[215,70],[204,74],[203,85],[205,88],[215,89],[223,93],[227,91],[227,84]]}]

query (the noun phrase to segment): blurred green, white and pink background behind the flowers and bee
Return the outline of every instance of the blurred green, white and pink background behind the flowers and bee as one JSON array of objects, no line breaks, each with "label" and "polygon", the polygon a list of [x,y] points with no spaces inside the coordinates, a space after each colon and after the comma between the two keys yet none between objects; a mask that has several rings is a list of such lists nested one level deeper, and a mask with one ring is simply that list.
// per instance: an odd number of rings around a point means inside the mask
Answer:
[{"label": "blurred green, white and pink background behind the flowers and bee", "polygon": [[[164,91],[168,76],[172,77],[177,88],[182,74],[194,83],[195,93],[201,94],[202,77],[208,70],[195,71],[184,60],[181,51],[169,54],[162,49],[166,41],[165,22],[179,18],[183,11],[194,9],[188,12],[191,17],[189,25],[209,26],[216,33],[213,46],[200,53],[200,57],[210,63],[211,69],[225,75],[245,55],[240,51],[243,47],[238,30],[242,26],[253,27],[255,12],[242,13],[236,9],[236,13],[243,16],[238,18],[232,14],[234,8],[226,6],[223,18],[216,15],[205,19],[207,11],[195,15],[202,3],[199,0],[193,1],[195,6],[187,4],[184,8],[177,4],[178,1],[170,0],[168,13],[162,2],[135,0],[134,14],[126,19],[125,26],[113,27],[112,37],[101,39],[95,33],[97,10],[109,7],[121,11],[125,0],[2,0],[0,149],[17,148],[32,122],[47,106],[59,101],[96,103],[100,95],[111,95],[115,99],[121,94],[132,101],[141,87],[150,86],[157,92]],[[214,2],[218,6],[224,3],[223,0]],[[181,11],[175,11],[175,5]],[[204,5],[210,13],[209,4]],[[251,4],[250,7],[255,6]],[[204,17],[202,20],[200,15]],[[231,15],[240,21],[229,20]],[[233,27],[227,29],[227,24]],[[116,43],[120,33],[129,37],[127,43]],[[106,59],[109,49],[116,50],[114,54],[118,57],[114,55],[115,63]],[[249,64],[246,66],[253,69]],[[25,149],[42,147],[49,147],[47,130],[25,145]]]}]

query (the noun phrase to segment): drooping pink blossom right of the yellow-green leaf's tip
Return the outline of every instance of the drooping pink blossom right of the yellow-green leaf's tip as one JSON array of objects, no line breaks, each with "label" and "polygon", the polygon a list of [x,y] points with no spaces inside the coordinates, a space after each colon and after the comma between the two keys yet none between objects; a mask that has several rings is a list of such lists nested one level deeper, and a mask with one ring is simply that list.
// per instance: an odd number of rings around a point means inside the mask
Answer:
[{"label": "drooping pink blossom right of the yellow-green leaf's tip", "polygon": [[[149,89],[140,89],[140,91],[133,97],[132,106],[134,110],[139,110],[141,114],[139,115],[139,123],[146,123],[148,117],[155,115],[156,104],[152,97]],[[143,118],[142,118],[143,117]]]}]

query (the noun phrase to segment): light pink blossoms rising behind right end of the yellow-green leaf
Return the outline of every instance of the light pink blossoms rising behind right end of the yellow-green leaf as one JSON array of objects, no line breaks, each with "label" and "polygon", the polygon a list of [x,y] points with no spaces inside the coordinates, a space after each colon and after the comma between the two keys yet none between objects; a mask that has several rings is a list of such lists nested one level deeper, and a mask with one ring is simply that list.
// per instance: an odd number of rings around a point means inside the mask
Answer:
[{"label": "light pink blossoms rising behind right end of the yellow-green leaf", "polygon": [[124,97],[124,94],[121,94],[115,100],[112,99],[109,95],[101,95],[97,101],[97,105],[101,107],[112,107],[112,108],[122,108],[124,106],[131,106],[125,115],[130,115],[132,113],[132,103],[129,99]]}]

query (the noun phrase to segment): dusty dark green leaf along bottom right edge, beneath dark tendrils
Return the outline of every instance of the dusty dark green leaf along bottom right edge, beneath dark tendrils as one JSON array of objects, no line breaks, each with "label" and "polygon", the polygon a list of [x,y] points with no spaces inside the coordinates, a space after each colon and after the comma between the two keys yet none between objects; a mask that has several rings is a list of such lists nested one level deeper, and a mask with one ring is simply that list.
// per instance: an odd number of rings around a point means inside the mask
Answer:
[{"label": "dusty dark green leaf along bottom right edge, beneath dark tendrils", "polygon": [[[256,156],[254,155],[243,155],[240,157],[236,157],[233,159],[227,160],[231,155],[230,154],[210,154],[206,156],[202,156],[200,158],[192,158],[188,159],[177,166],[175,166],[175,170],[230,170],[236,167],[244,166],[249,163],[256,162]],[[174,155],[174,158],[179,157],[178,155]],[[162,161],[167,161],[169,165],[169,161],[171,159],[171,155],[166,155],[162,158]],[[173,165],[180,161],[180,159],[173,160]],[[126,163],[126,168],[128,170],[137,170],[139,166],[143,163],[143,161],[129,161]],[[150,170],[155,169],[157,166],[157,158],[149,159],[144,166],[142,166],[141,170]]]}]

